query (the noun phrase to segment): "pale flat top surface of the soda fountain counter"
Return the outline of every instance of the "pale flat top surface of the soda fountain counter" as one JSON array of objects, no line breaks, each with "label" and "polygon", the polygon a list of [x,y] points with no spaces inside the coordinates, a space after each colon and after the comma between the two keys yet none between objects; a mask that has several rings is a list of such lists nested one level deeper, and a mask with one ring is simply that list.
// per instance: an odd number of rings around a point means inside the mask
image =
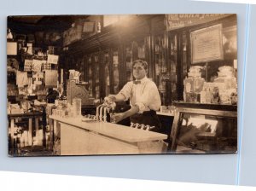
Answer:
[{"label": "pale flat top surface of the soda fountain counter", "polygon": [[[91,119],[80,118],[60,118],[49,115],[49,119],[54,119],[63,124],[69,124],[74,127],[95,132],[104,136],[113,137],[125,142],[148,142],[164,140],[167,135],[148,130],[140,130],[120,124],[91,121]],[[85,121],[82,121],[84,119]],[[87,120],[87,122],[86,122]]]}]

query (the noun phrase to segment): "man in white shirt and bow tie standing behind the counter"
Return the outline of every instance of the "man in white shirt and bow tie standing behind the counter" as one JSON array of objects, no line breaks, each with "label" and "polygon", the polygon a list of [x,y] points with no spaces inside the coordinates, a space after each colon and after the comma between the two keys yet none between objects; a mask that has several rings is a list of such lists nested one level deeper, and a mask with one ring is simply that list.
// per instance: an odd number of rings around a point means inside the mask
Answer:
[{"label": "man in white shirt and bow tie standing behind the counter", "polygon": [[125,84],[117,95],[105,98],[108,104],[130,99],[131,109],[124,113],[114,113],[111,118],[116,123],[130,117],[132,123],[154,126],[153,131],[160,131],[160,120],[156,111],[160,109],[159,91],[154,82],[147,78],[148,63],[137,60],[132,64],[135,81]]}]

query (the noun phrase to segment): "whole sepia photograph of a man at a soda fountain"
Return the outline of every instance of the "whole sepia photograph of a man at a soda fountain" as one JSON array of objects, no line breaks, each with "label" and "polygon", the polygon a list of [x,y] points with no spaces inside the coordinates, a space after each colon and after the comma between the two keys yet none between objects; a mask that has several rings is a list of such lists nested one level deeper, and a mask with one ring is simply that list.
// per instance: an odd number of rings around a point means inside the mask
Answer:
[{"label": "whole sepia photograph of a man at a soda fountain", "polygon": [[10,157],[237,152],[236,14],[10,15]]}]

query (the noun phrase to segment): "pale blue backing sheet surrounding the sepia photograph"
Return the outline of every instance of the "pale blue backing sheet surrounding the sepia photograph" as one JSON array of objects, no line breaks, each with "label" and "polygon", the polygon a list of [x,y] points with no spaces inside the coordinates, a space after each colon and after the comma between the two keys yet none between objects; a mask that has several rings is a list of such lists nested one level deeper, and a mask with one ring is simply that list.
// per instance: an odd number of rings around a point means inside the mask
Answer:
[{"label": "pale blue backing sheet surrounding the sepia photograph", "polygon": [[[245,48],[247,39],[247,5],[245,4],[230,4],[230,3],[202,3],[191,1],[165,1],[160,0],[155,2],[150,1],[67,1],[60,0],[49,1],[45,0],[38,6],[37,3],[31,1],[12,1],[13,3],[4,2],[1,5],[0,24],[1,24],[1,47],[6,46],[6,16],[12,14],[172,14],[172,13],[231,13],[237,14],[238,18],[238,89],[239,101],[242,103],[243,95],[243,78],[245,67]],[[114,6],[113,6],[114,4]],[[61,5],[61,9],[60,9]],[[251,12],[255,12],[252,9]],[[250,18],[255,18],[255,14],[249,15]],[[255,21],[254,21],[255,23]],[[252,23],[253,24],[253,23]],[[255,32],[254,32],[255,33]],[[253,32],[252,32],[253,34]],[[253,44],[250,43],[250,44]],[[255,43],[254,43],[255,44]],[[251,45],[253,46],[253,45]],[[253,54],[253,48],[251,48]],[[254,56],[255,57],[255,56]],[[6,76],[6,51],[0,53],[1,65],[0,75]],[[252,61],[255,58],[251,58]],[[249,60],[248,60],[249,61]],[[251,69],[253,72],[253,66]],[[250,71],[250,70],[248,70]],[[248,75],[247,75],[248,77]],[[1,171],[27,171],[39,173],[54,173],[54,174],[69,174],[81,176],[95,177],[121,177],[135,179],[149,179],[161,181],[178,181],[178,182],[206,182],[220,184],[237,184],[240,180],[241,172],[242,184],[251,184],[253,182],[253,174],[250,174],[248,169],[255,169],[255,153],[252,153],[253,148],[253,110],[252,106],[253,89],[248,91],[245,96],[245,111],[243,116],[247,116],[247,123],[242,124],[241,121],[242,105],[238,111],[238,128],[244,130],[242,140],[244,146],[239,150],[238,154],[214,154],[214,155],[140,155],[140,156],[84,156],[84,157],[41,157],[41,158],[9,158],[7,156],[7,118],[6,118],[6,78],[2,78],[1,87],[1,121],[2,128],[0,130],[0,170]],[[249,84],[253,85],[253,73],[250,78],[247,78],[247,89]],[[248,113],[252,113],[248,115]],[[249,120],[249,117],[251,119]],[[241,129],[242,125],[242,129]],[[245,133],[245,130],[247,132]],[[241,131],[240,131],[241,135]],[[249,141],[250,140],[250,141]],[[254,139],[255,140],[255,139]],[[255,143],[254,143],[255,145]],[[240,155],[240,151],[242,155]],[[252,154],[250,154],[252,153]],[[244,155],[243,155],[244,154]],[[246,165],[239,166],[239,159],[243,156],[243,163]],[[240,169],[244,168],[244,170]],[[253,172],[253,171],[251,171]],[[248,177],[251,176],[251,177]],[[254,176],[255,177],[255,176]],[[85,185],[84,185],[85,186]]]}]

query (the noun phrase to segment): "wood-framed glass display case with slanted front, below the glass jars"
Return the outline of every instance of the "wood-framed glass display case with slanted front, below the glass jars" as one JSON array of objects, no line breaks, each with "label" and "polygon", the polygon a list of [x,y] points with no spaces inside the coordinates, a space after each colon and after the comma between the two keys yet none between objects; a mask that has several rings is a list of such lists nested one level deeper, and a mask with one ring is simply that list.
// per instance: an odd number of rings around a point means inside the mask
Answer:
[{"label": "wood-framed glass display case with slanted front, below the glass jars", "polygon": [[178,106],[171,137],[174,153],[236,153],[236,106]]}]

